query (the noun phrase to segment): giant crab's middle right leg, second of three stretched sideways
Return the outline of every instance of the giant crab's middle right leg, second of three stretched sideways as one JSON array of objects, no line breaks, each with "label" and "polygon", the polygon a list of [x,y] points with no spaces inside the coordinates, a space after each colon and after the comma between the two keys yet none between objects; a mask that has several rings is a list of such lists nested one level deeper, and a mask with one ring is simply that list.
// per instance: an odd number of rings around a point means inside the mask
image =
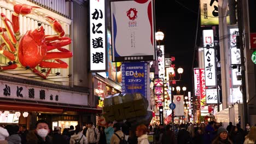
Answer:
[{"label": "giant crab's middle right leg, second of three stretched sideways", "polygon": [[64,49],[62,47],[57,48],[57,50],[61,52],[47,52],[46,56],[44,57],[44,60],[48,59],[60,59],[60,58],[69,58],[72,57],[73,54],[67,49]]}]

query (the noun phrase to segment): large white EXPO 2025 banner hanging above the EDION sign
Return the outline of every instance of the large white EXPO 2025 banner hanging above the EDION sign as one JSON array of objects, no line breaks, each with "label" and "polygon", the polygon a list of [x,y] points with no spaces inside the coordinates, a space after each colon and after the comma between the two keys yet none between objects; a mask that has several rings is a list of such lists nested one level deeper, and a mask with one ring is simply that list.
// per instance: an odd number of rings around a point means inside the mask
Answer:
[{"label": "large white EXPO 2025 banner hanging above the EDION sign", "polygon": [[113,62],[155,60],[153,3],[110,2]]}]

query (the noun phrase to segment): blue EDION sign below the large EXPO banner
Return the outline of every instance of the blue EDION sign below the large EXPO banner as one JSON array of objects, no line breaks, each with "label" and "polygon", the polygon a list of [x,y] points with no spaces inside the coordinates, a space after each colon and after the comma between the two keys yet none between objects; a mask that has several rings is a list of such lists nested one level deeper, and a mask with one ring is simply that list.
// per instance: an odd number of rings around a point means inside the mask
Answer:
[{"label": "blue EDION sign below the large EXPO banner", "polygon": [[123,93],[141,93],[147,98],[147,62],[122,63]]}]

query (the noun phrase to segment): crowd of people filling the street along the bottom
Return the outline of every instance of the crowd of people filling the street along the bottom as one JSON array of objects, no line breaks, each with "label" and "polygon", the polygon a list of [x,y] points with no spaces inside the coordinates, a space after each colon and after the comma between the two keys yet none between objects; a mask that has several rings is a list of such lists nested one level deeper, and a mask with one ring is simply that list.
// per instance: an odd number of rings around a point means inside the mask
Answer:
[{"label": "crowd of people filling the street along the bottom", "polygon": [[[148,126],[148,127],[147,127]],[[199,124],[137,125],[130,123],[108,122],[106,127],[95,127],[88,123],[84,127],[72,125],[63,130],[60,127],[51,130],[44,120],[36,123],[36,129],[28,131],[26,127],[6,125],[0,127],[0,144],[149,144],[148,135],[154,135],[154,144],[247,144],[256,143],[256,127],[246,124],[243,130],[240,124],[224,128],[222,123],[209,122]],[[61,133],[62,132],[62,133]]]}]

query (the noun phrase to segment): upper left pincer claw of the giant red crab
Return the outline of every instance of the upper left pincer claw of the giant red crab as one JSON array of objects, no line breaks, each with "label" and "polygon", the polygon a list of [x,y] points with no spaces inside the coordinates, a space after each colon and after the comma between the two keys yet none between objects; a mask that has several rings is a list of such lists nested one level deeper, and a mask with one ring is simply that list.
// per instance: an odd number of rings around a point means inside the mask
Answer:
[{"label": "upper left pincer claw of the giant red crab", "polygon": [[18,15],[27,15],[30,14],[34,8],[40,9],[40,7],[35,7],[28,4],[16,4],[14,5],[14,12]]}]

